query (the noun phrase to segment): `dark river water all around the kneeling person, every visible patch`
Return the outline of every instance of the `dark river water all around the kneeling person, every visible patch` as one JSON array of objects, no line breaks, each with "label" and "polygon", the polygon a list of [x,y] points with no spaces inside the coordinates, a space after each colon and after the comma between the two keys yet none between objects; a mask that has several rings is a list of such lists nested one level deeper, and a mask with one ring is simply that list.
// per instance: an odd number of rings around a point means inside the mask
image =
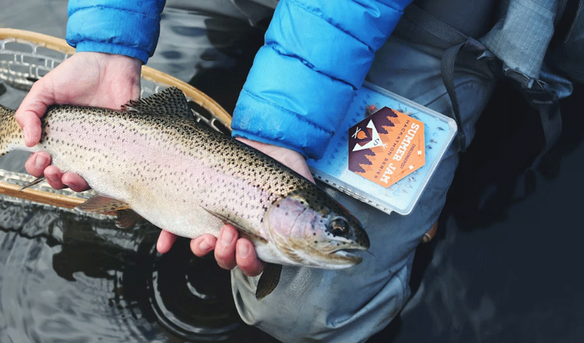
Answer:
[{"label": "dark river water all around the kneeling person, every visible patch", "polygon": [[[1,27],[65,36],[67,1],[3,2]],[[149,65],[232,110],[260,33],[176,8],[162,25]],[[498,86],[438,235],[418,248],[416,292],[370,342],[584,341],[584,90],[562,103],[563,134],[534,174],[522,171],[539,128],[513,92]],[[8,87],[0,102],[16,108],[23,95]],[[0,168],[23,171],[26,156],[4,156]],[[194,257],[186,239],[159,255],[158,233],[2,198],[0,343],[274,342],[239,319],[228,272]]]}]

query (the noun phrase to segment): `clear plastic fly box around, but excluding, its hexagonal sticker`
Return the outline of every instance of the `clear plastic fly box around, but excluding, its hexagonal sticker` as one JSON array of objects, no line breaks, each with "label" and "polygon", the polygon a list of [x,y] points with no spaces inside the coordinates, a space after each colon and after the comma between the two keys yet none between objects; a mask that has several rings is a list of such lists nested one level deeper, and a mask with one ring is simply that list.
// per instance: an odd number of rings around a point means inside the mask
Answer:
[{"label": "clear plastic fly box around, but excluding, its hexagonal sticker", "polygon": [[[425,165],[385,188],[348,169],[349,128],[367,117],[368,108],[389,107],[424,123]],[[348,113],[335,132],[324,155],[308,160],[315,179],[327,183],[375,208],[409,214],[456,135],[456,121],[434,110],[366,82],[357,90]]]}]

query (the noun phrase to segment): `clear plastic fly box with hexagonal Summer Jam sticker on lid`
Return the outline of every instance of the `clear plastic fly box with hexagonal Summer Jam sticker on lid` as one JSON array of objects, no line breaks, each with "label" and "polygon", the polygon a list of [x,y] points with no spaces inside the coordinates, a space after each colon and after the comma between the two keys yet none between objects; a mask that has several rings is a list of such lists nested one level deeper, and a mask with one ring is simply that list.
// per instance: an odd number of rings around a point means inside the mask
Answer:
[{"label": "clear plastic fly box with hexagonal Summer Jam sticker on lid", "polygon": [[409,214],[456,134],[456,121],[366,82],[324,155],[317,180],[381,211]]}]

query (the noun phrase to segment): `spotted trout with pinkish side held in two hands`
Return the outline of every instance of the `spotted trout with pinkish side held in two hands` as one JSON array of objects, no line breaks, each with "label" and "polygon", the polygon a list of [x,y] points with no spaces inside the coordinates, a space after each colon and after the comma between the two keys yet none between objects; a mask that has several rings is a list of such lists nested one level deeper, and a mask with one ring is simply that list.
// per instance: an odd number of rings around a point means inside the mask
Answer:
[{"label": "spotted trout with pinkish side held in two hands", "polygon": [[197,122],[179,88],[119,110],[51,106],[34,147],[14,113],[0,105],[0,155],[45,151],[60,170],[85,178],[98,195],[76,209],[117,213],[121,227],[142,217],[188,238],[235,226],[267,263],[258,299],[276,287],[282,265],[350,268],[370,246],[359,220],[323,189]]}]

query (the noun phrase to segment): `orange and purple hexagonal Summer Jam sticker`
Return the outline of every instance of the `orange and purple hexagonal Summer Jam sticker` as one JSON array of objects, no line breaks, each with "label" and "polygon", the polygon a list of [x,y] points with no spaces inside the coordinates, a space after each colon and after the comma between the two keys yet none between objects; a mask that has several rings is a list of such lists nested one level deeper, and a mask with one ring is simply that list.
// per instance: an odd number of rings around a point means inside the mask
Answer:
[{"label": "orange and purple hexagonal Summer Jam sticker", "polygon": [[349,129],[349,170],[390,187],[426,162],[424,123],[384,107]]}]

